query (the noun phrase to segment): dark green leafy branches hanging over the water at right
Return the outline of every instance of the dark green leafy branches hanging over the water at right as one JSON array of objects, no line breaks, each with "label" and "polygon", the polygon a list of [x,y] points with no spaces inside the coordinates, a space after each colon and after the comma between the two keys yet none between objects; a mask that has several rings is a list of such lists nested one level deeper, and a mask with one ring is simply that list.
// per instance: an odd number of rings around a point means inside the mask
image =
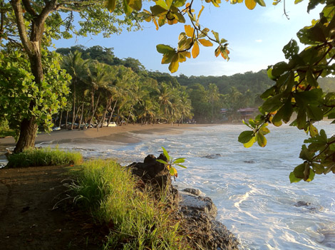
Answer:
[{"label": "dark green leafy branches hanging over the water at right", "polygon": [[[267,73],[275,83],[261,95],[264,99],[259,107],[261,115],[244,122],[252,130],[239,135],[239,142],[244,143],[244,147],[250,147],[254,142],[264,147],[269,123],[280,126],[283,122],[290,122],[290,125],[304,130],[309,139],[304,140],[301,147],[299,157],[303,163],[289,175],[291,182],[301,179],[310,182],[315,174],[335,173],[335,135],[328,137],[324,130],[318,131],[314,126],[324,118],[335,118],[335,93],[326,93],[319,85],[320,78],[335,74],[335,4],[334,1],[311,0],[307,11],[318,4],[324,4],[320,19],[297,33],[306,48],[299,52],[294,40],[284,46],[288,62],[269,67]],[[297,118],[291,121],[293,113]]]}]

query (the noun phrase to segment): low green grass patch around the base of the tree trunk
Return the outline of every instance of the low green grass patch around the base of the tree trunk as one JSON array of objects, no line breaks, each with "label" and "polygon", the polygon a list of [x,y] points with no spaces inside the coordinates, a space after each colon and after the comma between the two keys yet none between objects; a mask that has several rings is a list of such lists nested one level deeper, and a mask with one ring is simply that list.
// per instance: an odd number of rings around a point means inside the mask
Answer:
[{"label": "low green grass patch around the base of the tree trunk", "polygon": [[81,162],[83,162],[83,156],[79,152],[66,152],[58,148],[46,147],[9,155],[6,167],[77,165]]}]

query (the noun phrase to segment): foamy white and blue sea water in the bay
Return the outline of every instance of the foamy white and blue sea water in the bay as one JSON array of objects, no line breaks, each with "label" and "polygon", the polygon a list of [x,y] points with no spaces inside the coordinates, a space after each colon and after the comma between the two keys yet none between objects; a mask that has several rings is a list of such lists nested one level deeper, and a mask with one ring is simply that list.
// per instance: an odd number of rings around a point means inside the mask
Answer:
[{"label": "foamy white and blue sea water in the bay", "polygon": [[[329,123],[316,127],[328,136],[335,133]],[[237,236],[239,249],[335,249],[335,176],[290,184],[289,173],[302,162],[299,152],[307,136],[288,125],[269,128],[264,148],[247,149],[237,142],[247,130],[244,125],[195,127],[175,135],[136,132],[132,136],[142,141],[135,144],[81,140],[58,147],[128,165],[143,162],[148,154],[158,156],[163,146],[172,157],[186,158],[187,169],[177,168],[174,184],[211,197],[217,219]]]}]

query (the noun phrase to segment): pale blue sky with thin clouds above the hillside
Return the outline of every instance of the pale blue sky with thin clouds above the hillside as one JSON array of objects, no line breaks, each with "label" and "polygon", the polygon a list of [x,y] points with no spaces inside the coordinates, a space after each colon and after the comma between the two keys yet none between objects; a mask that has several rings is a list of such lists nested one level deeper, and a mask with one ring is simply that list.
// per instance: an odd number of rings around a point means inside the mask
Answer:
[{"label": "pale blue sky with thin clouds above the hillside", "polygon": [[[267,69],[279,61],[285,61],[282,48],[293,38],[297,41],[297,32],[304,26],[310,26],[312,19],[319,18],[321,8],[314,9],[308,14],[308,1],[294,4],[294,0],[286,1],[286,11],[289,19],[284,16],[283,3],[277,6],[272,1],[265,0],[266,7],[257,5],[250,11],[243,4],[230,4],[222,0],[220,8],[200,2],[205,6],[200,16],[200,24],[220,33],[229,43],[230,61],[221,56],[215,58],[216,46],[200,46],[200,55],[197,58],[187,58],[180,63],[176,73],[172,75],[234,75],[247,71],[258,72]],[[168,64],[161,64],[162,55],[156,51],[156,45],[163,43],[177,47],[178,36],[184,31],[184,24],[175,24],[160,27],[158,31],[152,23],[143,23],[142,31],[123,31],[120,35],[110,38],[103,36],[75,37],[68,40],[54,41],[56,48],[66,48],[76,45],[86,47],[103,46],[114,48],[118,58],[135,58],[148,71],[170,73]],[[299,44],[300,49],[304,48]]]}]

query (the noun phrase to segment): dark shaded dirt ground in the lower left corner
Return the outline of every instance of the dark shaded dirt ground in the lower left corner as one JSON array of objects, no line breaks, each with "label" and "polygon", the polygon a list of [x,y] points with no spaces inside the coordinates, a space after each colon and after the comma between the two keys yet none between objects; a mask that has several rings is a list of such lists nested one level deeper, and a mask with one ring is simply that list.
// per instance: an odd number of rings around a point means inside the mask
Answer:
[{"label": "dark shaded dirt ground in the lower left corner", "polygon": [[59,202],[68,194],[66,172],[63,166],[0,169],[0,249],[100,249],[108,232],[72,199]]}]

